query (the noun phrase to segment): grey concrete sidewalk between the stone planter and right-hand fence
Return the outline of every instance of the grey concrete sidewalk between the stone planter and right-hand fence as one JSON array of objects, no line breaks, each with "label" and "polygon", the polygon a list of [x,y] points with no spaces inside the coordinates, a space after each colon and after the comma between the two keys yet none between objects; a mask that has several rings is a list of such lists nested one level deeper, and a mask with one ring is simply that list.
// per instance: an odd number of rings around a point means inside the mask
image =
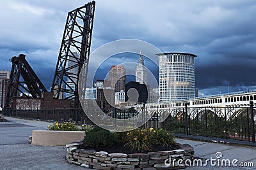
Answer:
[{"label": "grey concrete sidewalk between the stone planter and right-hand fence", "polygon": [[[206,167],[189,167],[188,169],[256,169],[256,148],[252,146],[244,145],[227,145],[222,143],[211,143],[207,141],[192,141],[188,139],[176,138],[177,143],[188,143],[193,146],[195,150],[196,159],[201,159],[205,163],[205,160],[216,159],[216,166],[211,166],[211,162],[207,162]],[[221,160],[230,160],[230,167],[221,166]],[[237,166],[232,166],[232,160],[237,159],[235,162]],[[218,166],[217,160],[220,160],[220,166]],[[253,167],[248,167],[248,164],[253,163]],[[242,164],[241,164],[242,163]],[[214,163],[213,163],[214,164]],[[247,167],[241,167],[240,165],[246,165]]]}]

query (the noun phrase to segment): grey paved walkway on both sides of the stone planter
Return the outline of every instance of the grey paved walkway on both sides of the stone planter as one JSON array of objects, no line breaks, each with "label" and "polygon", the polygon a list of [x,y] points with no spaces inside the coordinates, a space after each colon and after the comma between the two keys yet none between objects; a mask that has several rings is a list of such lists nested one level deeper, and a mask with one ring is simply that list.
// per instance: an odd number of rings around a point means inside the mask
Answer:
[{"label": "grey paved walkway on both sides of the stone planter", "polygon": [[[47,129],[47,125],[52,124],[51,122],[6,118],[8,122],[0,122],[0,169],[84,169],[67,163],[64,146],[35,146],[29,144],[28,137],[31,136],[32,131]],[[207,159],[216,159],[216,153],[221,152],[222,157],[219,160],[229,159],[232,162],[232,160],[237,159],[237,165],[241,162],[253,162],[254,165],[254,167],[228,167],[218,166],[218,164],[211,166],[211,162],[208,161],[207,166],[194,166],[187,169],[256,169],[256,148],[192,141],[182,138],[176,140],[178,143],[188,143],[193,146],[195,157],[200,158],[203,164]]]}]

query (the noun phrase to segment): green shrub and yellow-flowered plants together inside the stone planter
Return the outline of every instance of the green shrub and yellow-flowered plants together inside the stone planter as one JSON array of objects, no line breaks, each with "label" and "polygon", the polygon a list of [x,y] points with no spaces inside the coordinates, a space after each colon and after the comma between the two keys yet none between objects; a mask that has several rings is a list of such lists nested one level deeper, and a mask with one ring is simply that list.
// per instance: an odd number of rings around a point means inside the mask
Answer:
[{"label": "green shrub and yellow-flowered plants together inside the stone planter", "polygon": [[134,129],[129,132],[109,132],[100,127],[90,129],[83,139],[84,145],[92,148],[114,145],[117,141],[124,142],[131,150],[150,150],[154,145],[176,145],[175,139],[165,129]]}]

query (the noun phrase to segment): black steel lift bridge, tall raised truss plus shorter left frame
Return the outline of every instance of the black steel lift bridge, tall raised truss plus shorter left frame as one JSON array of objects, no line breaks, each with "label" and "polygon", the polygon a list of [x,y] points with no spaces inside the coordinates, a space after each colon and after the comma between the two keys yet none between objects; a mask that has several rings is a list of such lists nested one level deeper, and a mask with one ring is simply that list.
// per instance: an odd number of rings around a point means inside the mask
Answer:
[{"label": "black steel lift bridge, tall raised truss plus shorter left frame", "polygon": [[[95,1],[92,1],[68,12],[52,81],[51,92],[53,92],[54,99],[59,99],[61,94],[65,94],[66,97],[63,97],[63,99],[70,99],[73,102],[73,107],[80,106],[78,83],[81,71],[84,71],[81,87],[84,87],[85,90],[94,11]],[[72,62],[72,64],[68,64],[68,62]],[[22,76],[22,79],[20,76]],[[70,82],[72,85],[70,85]],[[12,72],[5,108],[12,107],[12,101],[19,96],[19,92],[24,94],[21,88],[28,91],[33,98],[40,98],[42,92],[47,92],[23,54],[19,57],[12,57]],[[25,96],[29,97],[26,94]]]}]

